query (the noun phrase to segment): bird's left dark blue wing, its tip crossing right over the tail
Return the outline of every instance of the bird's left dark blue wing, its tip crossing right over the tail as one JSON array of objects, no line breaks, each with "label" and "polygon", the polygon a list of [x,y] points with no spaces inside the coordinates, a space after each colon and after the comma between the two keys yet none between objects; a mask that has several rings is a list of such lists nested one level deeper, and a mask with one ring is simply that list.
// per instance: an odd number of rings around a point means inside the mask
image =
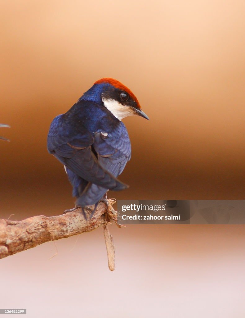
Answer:
[{"label": "bird's left dark blue wing, its tip crossing right over the tail", "polygon": [[64,115],[57,116],[51,123],[47,146],[53,154],[73,173],[89,183],[104,189],[122,190],[127,186],[107,171],[93,152],[93,135],[79,122],[68,125]]}]

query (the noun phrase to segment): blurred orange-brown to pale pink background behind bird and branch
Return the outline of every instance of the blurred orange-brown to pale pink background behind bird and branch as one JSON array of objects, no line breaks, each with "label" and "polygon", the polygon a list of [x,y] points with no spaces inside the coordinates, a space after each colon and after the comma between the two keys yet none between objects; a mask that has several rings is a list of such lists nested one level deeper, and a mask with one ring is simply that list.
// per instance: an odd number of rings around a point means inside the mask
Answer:
[{"label": "blurred orange-brown to pale pink background behind bird and branch", "polygon": [[[150,117],[124,120],[117,199],[244,199],[243,1],[1,1],[0,217],[73,206],[52,119],[102,77]],[[30,317],[244,317],[244,227],[112,226],[1,260],[1,308]],[[77,243],[76,243],[77,241]],[[243,274],[243,276],[242,276]],[[38,309],[38,306],[41,306]],[[71,312],[69,314],[69,311]],[[75,312],[78,314],[75,314]]]}]

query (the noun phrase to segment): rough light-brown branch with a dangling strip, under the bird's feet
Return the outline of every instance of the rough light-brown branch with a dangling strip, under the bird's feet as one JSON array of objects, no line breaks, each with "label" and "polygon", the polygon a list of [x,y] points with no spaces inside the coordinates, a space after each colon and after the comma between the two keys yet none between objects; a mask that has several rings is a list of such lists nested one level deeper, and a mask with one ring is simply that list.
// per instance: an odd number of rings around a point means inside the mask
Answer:
[{"label": "rough light-brown branch with a dangling strip, under the bird's feet", "polygon": [[90,232],[103,226],[106,231],[106,249],[109,251],[108,266],[110,270],[114,270],[114,245],[112,239],[107,239],[110,235],[107,224],[117,223],[117,212],[112,208],[114,200],[108,199],[107,203],[108,208],[104,202],[100,202],[92,218],[92,206],[85,207],[87,220],[80,208],[52,217],[39,215],[22,221],[0,219],[0,259],[45,242]]}]

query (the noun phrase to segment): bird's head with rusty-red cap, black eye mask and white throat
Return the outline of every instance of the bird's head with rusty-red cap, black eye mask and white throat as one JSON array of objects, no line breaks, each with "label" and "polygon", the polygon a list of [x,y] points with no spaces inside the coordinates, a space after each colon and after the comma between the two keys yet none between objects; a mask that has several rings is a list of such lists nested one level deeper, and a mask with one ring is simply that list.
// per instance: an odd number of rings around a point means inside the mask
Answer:
[{"label": "bird's head with rusty-red cap, black eye mask and white throat", "polygon": [[118,80],[112,78],[99,79],[91,89],[93,94],[97,92],[100,95],[103,105],[117,119],[122,120],[124,117],[131,115],[138,115],[149,119],[141,110],[136,96]]}]

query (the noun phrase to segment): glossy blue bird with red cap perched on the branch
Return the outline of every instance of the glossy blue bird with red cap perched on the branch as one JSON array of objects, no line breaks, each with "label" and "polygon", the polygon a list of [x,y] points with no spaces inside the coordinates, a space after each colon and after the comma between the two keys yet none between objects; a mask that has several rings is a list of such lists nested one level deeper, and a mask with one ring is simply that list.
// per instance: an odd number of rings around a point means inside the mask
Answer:
[{"label": "glossy blue bird with red cap perched on the branch", "polygon": [[48,152],[64,165],[76,206],[94,204],[92,214],[108,190],[128,188],[117,177],[131,158],[130,139],[121,121],[130,115],[149,120],[129,88],[102,78],[51,122]]}]

